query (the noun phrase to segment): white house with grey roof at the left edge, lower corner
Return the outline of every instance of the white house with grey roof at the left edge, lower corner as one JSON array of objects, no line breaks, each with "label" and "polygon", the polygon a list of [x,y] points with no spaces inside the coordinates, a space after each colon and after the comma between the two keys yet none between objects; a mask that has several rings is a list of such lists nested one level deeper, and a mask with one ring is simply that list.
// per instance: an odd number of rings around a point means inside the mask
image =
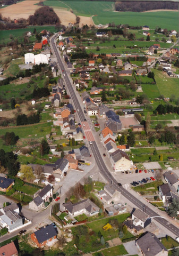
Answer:
[{"label": "white house with grey roof at the left edge, lower corner", "polygon": [[2,228],[7,228],[8,232],[13,232],[19,229],[23,225],[23,219],[19,215],[19,206],[17,204],[11,204],[3,209],[0,209],[0,225]]}]

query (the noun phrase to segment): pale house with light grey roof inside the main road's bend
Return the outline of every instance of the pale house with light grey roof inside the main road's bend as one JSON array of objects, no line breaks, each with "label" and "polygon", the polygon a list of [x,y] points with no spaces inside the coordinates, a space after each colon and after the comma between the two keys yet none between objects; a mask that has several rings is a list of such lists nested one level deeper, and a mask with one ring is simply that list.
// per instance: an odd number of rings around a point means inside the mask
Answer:
[{"label": "pale house with light grey roof inside the main road's bend", "polygon": [[98,191],[98,196],[105,204],[111,204],[120,200],[121,192],[111,185],[105,185],[103,190]]}]

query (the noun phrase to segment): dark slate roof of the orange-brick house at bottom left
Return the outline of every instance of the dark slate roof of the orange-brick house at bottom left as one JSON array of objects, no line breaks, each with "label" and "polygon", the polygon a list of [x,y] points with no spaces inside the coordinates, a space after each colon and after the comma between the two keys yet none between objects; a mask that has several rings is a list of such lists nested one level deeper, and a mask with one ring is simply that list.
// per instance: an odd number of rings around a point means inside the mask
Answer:
[{"label": "dark slate roof of the orange-brick house at bottom left", "polygon": [[56,236],[58,234],[57,230],[52,224],[37,230],[35,233],[37,241],[40,243],[47,241],[49,238]]}]

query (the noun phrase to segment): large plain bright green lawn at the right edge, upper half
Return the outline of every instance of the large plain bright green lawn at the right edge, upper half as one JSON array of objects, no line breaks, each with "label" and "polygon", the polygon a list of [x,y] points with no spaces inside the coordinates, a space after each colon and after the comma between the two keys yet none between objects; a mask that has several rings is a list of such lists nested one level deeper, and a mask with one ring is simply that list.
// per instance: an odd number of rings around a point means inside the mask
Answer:
[{"label": "large plain bright green lawn at the right edge, upper half", "polygon": [[179,82],[178,78],[171,78],[164,74],[162,71],[153,69],[158,90],[164,97],[171,97],[171,95],[178,95]]}]

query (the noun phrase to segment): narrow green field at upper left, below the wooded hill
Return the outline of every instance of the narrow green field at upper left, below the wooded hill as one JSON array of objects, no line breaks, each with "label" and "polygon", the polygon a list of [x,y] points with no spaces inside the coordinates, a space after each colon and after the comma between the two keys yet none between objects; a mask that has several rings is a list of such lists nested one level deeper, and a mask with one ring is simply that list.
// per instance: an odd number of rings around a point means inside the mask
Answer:
[{"label": "narrow green field at upper left, below the wooded hill", "polygon": [[32,31],[33,29],[37,30],[39,33],[41,30],[46,29],[50,32],[55,32],[55,26],[29,26],[27,28],[22,29],[12,29],[12,30],[1,30],[0,31],[0,42],[8,42],[10,41],[10,35],[13,35],[14,37],[23,37],[27,31]]}]

